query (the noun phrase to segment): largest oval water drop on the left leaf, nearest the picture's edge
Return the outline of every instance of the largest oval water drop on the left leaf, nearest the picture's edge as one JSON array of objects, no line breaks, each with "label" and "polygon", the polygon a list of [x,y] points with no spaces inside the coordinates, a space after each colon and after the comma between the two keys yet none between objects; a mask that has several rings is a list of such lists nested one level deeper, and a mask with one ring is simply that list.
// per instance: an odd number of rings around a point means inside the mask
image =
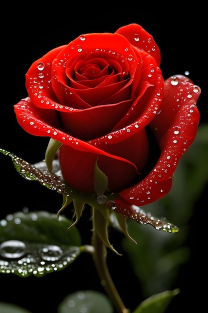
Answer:
[{"label": "largest oval water drop on the left leaf, nearest the picture's edge", "polygon": [[19,240],[7,240],[0,244],[0,255],[6,258],[21,257],[25,250],[25,243]]}]

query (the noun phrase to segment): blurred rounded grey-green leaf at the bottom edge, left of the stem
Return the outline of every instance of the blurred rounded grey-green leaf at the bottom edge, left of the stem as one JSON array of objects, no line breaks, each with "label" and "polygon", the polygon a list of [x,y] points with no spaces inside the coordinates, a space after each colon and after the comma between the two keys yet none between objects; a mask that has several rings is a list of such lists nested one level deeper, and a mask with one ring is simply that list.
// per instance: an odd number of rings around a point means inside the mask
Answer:
[{"label": "blurred rounded grey-green leaf at the bottom edge, left of the stem", "polygon": [[58,305],[58,313],[113,313],[114,309],[105,294],[94,290],[76,291],[67,295]]}]

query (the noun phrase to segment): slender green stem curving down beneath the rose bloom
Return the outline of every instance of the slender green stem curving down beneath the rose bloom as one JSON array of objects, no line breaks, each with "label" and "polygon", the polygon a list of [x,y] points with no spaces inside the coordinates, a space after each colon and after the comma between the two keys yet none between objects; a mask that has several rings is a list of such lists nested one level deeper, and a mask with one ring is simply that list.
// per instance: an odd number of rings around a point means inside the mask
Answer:
[{"label": "slender green stem curving down beneath the rose bloom", "polygon": [[[99,219],[99,222],[97,223]],[[106,263],[107,258],[107,247],[103,240],[98,235],[99,231],[97,232],[96,227],[100,223],[107,222],[102,213],[100,211],[94,209],[93,213],[93,234],[92,234],[92,245],[94,246],[95,250],[93,253],[93,260],[97,269],[97,273],[100,277],[101,284],[105,289],[107,295],[111,299],[112,303],[114,304],[118,313],[130,313],[129,309],[127,309],[112,281],[111,275],[108,270],[108,266]],[[107,228],[106,228],[107,230]]]}]

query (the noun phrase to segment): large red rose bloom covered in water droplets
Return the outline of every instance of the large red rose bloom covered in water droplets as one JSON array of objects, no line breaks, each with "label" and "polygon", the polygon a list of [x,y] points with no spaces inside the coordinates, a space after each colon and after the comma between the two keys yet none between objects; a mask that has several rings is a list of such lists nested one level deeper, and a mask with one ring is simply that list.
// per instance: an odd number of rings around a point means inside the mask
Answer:
[{"label": "large red rose bloom covered in water droplets", "polygon": [[118,205],[148,204],[170,191],[200,118],[199,86],[184,75],[164,81],[159,66],[159,47],[138,24],[82,34],[30,66],[17,121],[62,143],[57,156],[72,188],[95,193],[97,162]]}]

